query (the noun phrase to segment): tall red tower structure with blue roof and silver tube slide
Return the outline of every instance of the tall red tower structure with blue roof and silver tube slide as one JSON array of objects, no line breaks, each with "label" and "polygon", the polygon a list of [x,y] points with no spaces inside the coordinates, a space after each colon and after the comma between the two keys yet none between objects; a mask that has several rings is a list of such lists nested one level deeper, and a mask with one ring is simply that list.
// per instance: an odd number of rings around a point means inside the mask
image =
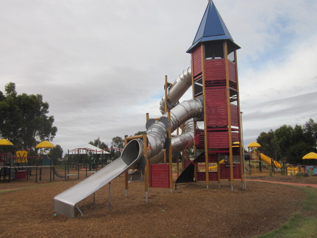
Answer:
[{"label": "tall red tower structure with blue roof and silver tube slide", "polygon": [[[187,51],[191,54],[191,67],[174,83],[168,83],[165,76],[165,95],[160,101],[162,116],[150,118],[147,114],[146,133],[126,136],[126,146],[118,159],[56,195],[54,211],[75,217],[75,208],[81,213],[76,205],[79,201],[107,183],[110,187],[111,180],[121,174],[125,174],[127,196],[130,169],[144,170],[146,202],[150,186],[158,184],[157,178],[164,180],[161,185],[173,192],[172,152],[184,152],[192,146],[196,157],[186,163],[188,166],[177,183],[206,181],[209,188],[211,180],[218,181],[220,186],[221,179],[228,179],[233,190],[234,179],[241,179],[245,188],[237,49],[240,47],[234,43],[214,3],[209,1],[194,42]],[[191,86],[193,99],[179,103]],[[177,128],[181,128],[182,133],[172,136]],[[241,143],[237,146],[236,142]],[[234,156],[237,157],[235,161]],[[225,163],[220,163],[222,159]],[[159,164],[163,160],[164,164]],[[209,170],[211,163],[216,165],[216,171]],[[205,171],[198,170],[199,166]]]}]

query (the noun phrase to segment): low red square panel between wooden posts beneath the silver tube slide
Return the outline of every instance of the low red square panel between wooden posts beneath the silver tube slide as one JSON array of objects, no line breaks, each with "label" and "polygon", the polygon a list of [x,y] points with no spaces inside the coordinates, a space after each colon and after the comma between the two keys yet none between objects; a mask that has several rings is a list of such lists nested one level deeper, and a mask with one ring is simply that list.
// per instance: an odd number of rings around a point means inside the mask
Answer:
[{"label": "low red square panel between wooden posts beneath the silver tube slide", "polygon": [[169,165],[150,165],[150,187],[169,187]]}]

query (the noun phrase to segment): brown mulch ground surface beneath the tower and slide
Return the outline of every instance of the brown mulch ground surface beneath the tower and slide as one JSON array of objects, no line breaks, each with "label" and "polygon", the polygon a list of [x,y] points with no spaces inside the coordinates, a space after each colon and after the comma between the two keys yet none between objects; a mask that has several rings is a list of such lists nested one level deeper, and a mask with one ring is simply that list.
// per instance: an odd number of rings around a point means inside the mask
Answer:
[{"label": "brown mulch ground surface beneath the tower and slide", "polygon": [[[85,179],[85,174],[79,180]],[[295,178],[265,173],[247,179],[317,184],[317,177]],[[0,182],[0,237],[3,238],[252,238],[265,234],[298,212],[305,200],[302,189],[284,184],[247,181],[234,190],[223,180],[184,183],[177,190],[151,188],[145,203],[144,183],[129,183],[125,197],[124,177],[111,182],[111,210],[108,185],[78,203],[83,212],[75,218],[55,214],[53,197],[79,180],[53,182],[35,179]],[[27,188],[26,188],[27,187]],[[23,189],[24,188],[24,189]]]}]

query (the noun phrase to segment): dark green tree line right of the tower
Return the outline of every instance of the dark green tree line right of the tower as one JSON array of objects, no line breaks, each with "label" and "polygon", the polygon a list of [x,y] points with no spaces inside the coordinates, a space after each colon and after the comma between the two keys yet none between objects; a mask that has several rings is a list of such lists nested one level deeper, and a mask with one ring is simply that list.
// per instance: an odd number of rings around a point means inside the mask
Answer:
[{"label": "dark green tree line right of the tower", "polygon": [[[260,151],[276,161],[286,161],[292,165],[303,164],[303,156],[317,152],[317,123],[309,119],[303,126],[282,125],[276,130],[261,132],[257,138]],[[308,160],[305,164],[312,164]]]}]

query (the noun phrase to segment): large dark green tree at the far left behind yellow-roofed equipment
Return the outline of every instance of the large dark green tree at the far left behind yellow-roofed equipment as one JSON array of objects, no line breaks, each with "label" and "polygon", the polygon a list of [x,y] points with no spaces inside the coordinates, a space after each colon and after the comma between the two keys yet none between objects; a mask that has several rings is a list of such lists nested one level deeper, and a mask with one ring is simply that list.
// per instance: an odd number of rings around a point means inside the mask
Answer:
[{"label": "large dark green tree at the far left behind yellow-roofed equipment", "polygon": [[31,149],[43,140],[52,140],[57,132],[54,117],[47,116],[49,104],[41,94],[18,95],[15,83],[5,85],[0,93],[0,136],[10,140],[14,150]]}]

